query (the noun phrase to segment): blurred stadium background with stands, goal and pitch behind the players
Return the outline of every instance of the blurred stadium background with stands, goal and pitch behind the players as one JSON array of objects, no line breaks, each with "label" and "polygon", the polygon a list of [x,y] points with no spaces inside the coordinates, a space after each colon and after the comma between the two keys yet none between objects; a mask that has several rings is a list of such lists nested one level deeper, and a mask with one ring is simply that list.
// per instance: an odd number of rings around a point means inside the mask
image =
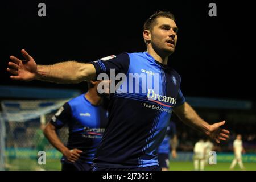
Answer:
[{"label": "blurred stadium background with stands, goal and pitch behind the players", "polygon": [[[1,169],[2,170],[60,170],[61,154],[48,143],[41,127],[51,119],[65,101],[79,95],[80,90],[22,88],[0,86],[1,98]],[[19,100],[15,100],[19,96]],[[21,99],[23,98],[23,99]],[[226,119],[225,128],[231,138],[214,145],[217,164],[207,165],[205,170],[228,170],[233,160],[233,140],[236,134],[243,136],[246,154],[243,162],[246,170],[256,170],[256,115],[253,103],[246,100],[186,97],[187,102],[209,122]],[[185,126],[175,115],[177,126],[177,158],[170,157],[170,170],[193,170],[193,147],[202,135]],[[67,142],[67,127],[59,130],[59,137]],[[46,151],[46,165],[38,164],[38,151]],[[238,166],[235,168],[240,170]]]}]

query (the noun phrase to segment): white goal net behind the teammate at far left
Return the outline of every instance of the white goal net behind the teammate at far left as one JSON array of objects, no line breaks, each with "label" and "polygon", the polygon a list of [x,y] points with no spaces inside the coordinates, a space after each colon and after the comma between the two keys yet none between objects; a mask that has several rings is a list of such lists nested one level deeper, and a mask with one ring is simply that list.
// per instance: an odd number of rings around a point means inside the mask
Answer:
[{"label": "white goal net behind the teammate at far left", "polygon": [[[68,100],[1,101],[0,170],[59,170],[61,153],[48,142],[43,128]],[[63,143],[68,129],[57,131]],[[46,164],[38,152],[46,152]]]}]

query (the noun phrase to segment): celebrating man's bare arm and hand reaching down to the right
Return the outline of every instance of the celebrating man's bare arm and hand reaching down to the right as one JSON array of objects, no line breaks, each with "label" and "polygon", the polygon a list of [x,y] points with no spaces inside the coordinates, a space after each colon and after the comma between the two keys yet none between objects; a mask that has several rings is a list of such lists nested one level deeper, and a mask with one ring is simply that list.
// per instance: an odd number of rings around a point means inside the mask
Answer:
[{"label": "celebrating man's bare arm and hand reaching down to the right", "polygon": [[225,121],[209,125],[209,123],[205,122],[199,117],[196,111],[193,110],[193,108],[187,102],[185,102],[183,105],[175,107],[174,112],[186,125],[203,132],[217,143],[220,143],[221,140],[226,140],[229,138],[229,131],[220,128],[225,124]]}]

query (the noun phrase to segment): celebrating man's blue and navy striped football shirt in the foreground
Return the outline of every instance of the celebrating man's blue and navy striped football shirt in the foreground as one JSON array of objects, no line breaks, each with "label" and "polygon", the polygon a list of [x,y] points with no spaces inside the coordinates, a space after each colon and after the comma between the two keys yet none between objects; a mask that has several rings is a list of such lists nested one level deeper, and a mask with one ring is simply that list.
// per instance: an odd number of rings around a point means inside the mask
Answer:
[{"label": "celebrating man's blue and navy striped football shirt in the foreground", "polygon": [[[166,134],[172,110],[185,102],[179,74],[155,61],[147,52],[122,53],[92,64],[96,76],[107,73],[110,78],[110,69],[114,69],[115,75],[125,74],[139,88],[139,93],[135,93],[128,79],[117,92],[110,94],[108,126],[97,148],[93,166],[133,168],[158,165],[157,148]],[[133,78],[134,73],[137,73],[137,78],[141,73],[146,74],[147,80],[149,77],[155,80],[158,75],[159,80],[153,86],[158,88],[155,94],[164,98],[163,101],[148,98],[153,95],[148,84],[145,89],[141,79]],[[166,98],[171,98],[170,102]]]}]

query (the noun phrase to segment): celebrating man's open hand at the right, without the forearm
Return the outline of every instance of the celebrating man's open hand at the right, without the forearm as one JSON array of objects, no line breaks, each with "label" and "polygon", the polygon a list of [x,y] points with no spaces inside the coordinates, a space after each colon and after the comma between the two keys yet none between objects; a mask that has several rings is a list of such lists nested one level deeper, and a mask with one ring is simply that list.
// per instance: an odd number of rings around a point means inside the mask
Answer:
[{"label": "celebrating man's open hand at the right, without the forearm", "polygon": [[226,139],[229,138],[229,131],[225,129],[221,129],[221,126],[224,124],[225,124],[225,121],[221,121],[218,123],[214,123],[213,125],[210,125],[208,135],[217,143],[220,143],[221,141],[225,141]]}]

